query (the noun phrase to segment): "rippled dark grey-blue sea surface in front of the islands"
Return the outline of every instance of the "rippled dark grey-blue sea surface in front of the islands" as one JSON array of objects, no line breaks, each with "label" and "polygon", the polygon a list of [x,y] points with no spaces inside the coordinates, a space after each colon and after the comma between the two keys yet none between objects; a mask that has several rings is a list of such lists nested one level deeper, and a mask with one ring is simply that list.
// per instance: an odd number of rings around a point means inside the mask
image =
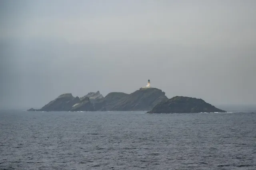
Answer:
[{"label": "rippled dark grey-blue sea surface in front of the islands", "polygon": [[0,111],[0,169],[256,170],[256,113]]}]

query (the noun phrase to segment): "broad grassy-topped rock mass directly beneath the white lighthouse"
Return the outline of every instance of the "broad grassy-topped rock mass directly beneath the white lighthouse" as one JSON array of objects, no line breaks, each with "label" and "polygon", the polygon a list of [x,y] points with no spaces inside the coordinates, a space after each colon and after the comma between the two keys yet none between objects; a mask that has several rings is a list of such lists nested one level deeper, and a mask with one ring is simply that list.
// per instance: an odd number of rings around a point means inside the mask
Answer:
[{"label": "broad grassy-topped rock mass directly beneath the white lighthouse", "polygon": [[165,96],[165,92],[157,88],[136,90],[131,94],[112,92],[95,104],[95,109],[100,111],[151,110],[156,104],[166,99],[168,98]]}]

